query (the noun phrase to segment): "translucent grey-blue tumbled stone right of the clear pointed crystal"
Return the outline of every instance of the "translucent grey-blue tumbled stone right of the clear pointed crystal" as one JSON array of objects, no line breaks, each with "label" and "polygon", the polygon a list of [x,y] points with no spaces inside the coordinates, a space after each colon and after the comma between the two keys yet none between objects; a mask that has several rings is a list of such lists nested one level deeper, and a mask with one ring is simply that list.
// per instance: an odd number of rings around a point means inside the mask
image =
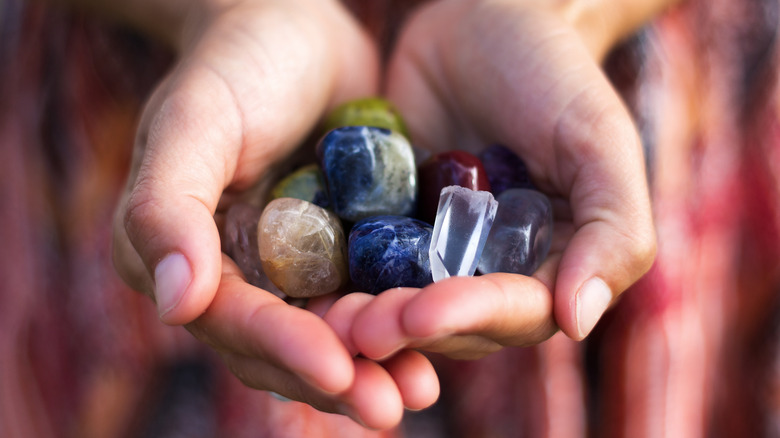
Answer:
[{"label": "translucent grey-blue tumbled stone right of the clear pointed crystal", "polygon": [[531,275],[547,257],[552,242],[552,205],[543,193],[509,189],[498,196],[479,272]]}]

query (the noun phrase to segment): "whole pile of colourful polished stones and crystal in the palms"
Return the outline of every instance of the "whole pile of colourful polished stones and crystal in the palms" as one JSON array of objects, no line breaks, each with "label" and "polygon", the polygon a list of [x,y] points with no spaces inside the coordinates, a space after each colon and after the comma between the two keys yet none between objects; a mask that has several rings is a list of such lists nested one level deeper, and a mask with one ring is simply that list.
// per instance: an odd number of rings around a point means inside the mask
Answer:
[{"label": "whole pile of colourful polished stones and crystal in the palms", "polygon": [[546,257],[550,202],[510,149],[418,165],[400,115],[376,98],[342,105],[325,127],[316,162],[279,181],[262,216],[228,213],[224,246],[252,284],[290,297],[376,294],[477,269],[529,275]]}]

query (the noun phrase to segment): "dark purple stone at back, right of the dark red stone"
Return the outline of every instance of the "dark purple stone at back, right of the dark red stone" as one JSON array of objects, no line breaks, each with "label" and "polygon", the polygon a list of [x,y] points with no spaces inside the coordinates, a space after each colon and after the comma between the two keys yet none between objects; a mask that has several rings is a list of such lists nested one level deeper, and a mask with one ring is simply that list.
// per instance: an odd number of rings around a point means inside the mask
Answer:
[{"label": "dark purple stone at back, right of the dark red stone", "polygon": [[507,189],[535,189],[525,162],[506,146],[494,144],[480,152],[479,158],[487,171],[493,196]]}]

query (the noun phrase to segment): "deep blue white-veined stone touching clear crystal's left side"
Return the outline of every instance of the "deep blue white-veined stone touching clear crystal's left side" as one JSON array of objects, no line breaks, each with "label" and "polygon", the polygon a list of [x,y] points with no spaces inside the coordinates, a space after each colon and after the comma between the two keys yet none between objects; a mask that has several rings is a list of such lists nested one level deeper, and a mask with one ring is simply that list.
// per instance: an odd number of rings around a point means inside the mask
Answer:
[{"label": "deep blue white-veined stone touching clear crystal's left side", "polygon": [[363,219],[349,233],[349,276],[373,294],[433,282],[428,248],[433,227],[404,216]]}]

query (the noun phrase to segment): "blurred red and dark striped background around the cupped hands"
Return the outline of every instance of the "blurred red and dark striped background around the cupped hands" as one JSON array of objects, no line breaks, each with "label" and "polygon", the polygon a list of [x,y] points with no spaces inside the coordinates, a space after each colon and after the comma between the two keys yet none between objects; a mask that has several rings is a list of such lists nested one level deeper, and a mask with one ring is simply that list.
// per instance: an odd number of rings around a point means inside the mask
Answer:
[{"label": "blurred red and dark striped background around the cupped hands", "polygon": [[[419,1],[346,1],[386,46]],[[780,436],[777,0],[691,0],[605,68],[647,151],[651,272],[593,335],[458,362],[394,431],[243,387],[111,264],[146,96],[173,56],[0,0],[0,436]]]}]

